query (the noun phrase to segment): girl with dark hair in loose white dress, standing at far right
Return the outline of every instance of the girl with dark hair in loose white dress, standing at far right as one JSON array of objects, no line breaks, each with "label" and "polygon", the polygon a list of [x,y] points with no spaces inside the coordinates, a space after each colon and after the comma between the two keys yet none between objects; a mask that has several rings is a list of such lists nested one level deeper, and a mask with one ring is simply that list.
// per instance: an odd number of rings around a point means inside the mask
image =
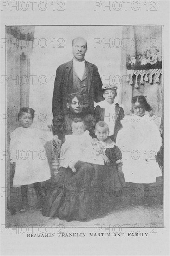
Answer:
[{"label": "girl with dark hair in loose white dress, standing at far right", "polygon": [[[132,98],[133,114],[121,121],[123,128],[118,132],[117,145],[121,148],[125,181],[130,182],[131,201],[149,196],[149,184],[162,176],[155,155],[161,146],[157,120],[148,112],[152,110],[144,96]],[[142,184],[143,186],[137,186]],[[136,191],[135,191],[135,188]],[[140,188],[140,189],[139,189]],[[153,193],[152,193],[153,194]]]}]

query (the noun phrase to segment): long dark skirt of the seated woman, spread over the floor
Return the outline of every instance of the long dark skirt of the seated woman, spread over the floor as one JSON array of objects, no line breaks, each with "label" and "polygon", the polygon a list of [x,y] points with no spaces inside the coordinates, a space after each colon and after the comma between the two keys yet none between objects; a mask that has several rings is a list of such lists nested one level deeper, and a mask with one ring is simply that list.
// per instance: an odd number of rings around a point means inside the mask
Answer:
[{"label": "long dark skirt of the seated woman, spread over the floor", "polygon": [[46,196],[44,216],[84,221],[105,215],[121,203],[125,181],[116,166],[78,161],[75,167],[76,173],[60,167]]}]

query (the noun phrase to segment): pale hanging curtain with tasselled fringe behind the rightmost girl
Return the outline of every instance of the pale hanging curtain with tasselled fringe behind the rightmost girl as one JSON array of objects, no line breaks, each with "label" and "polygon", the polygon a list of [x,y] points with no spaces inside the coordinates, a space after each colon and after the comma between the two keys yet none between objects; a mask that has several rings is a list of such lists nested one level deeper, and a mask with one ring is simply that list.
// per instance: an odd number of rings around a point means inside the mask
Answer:
[{"label": "pale hanging curtain with tasselled fringe behind the rightmost girl", "polygon": [[[131,110],[132,96],[144,95],[157,116],[162,117],[162,70],[152,69],[154,65],[136,70],[127,69],[128,56],[135,57],[136,54],[144,54],[149,51],[153,53],[156,49],[162,55],[162,26],[140,25],[124,26],[122,40],[126,39],[127,44],[121,49],[121,73],[122,79],[122,104],[124,111]],[[124,40],[125,41],[125,40]],[[133,61],[133,60],[132,60]]]}]

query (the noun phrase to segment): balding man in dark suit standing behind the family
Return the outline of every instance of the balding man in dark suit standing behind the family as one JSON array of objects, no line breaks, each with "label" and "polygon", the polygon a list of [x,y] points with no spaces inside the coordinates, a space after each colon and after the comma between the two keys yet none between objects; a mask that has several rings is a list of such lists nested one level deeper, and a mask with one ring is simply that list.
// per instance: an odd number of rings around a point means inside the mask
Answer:
[{"label": "balding man in dark suit standing behind the family", "polygon": [[54,125],[57,116],[68,113],[68,94],[76,92],[83,94],[83,108],[87,114],[93,114],[94,101],[102,100],[102,81],[98,68],[85,61],[86,52],[87,41],[82,37],[75,38],[72,41],[74,58],[57,68],[52,101]]}]

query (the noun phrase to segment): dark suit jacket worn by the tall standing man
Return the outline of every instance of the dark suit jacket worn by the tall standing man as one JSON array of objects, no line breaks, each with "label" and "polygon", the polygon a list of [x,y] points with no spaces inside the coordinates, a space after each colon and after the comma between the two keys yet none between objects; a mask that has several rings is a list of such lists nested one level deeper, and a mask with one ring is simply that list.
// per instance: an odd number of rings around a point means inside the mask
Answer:
[{"label": "dark suit jacket worn by the tall standing man", "polygon": [[[102,101],[102,81],[98,73],[98,68],[85,61],[86,71],[88,75],[88,93],[91,112],[94,112],[94,101]],[[53,116],[68,113],[66,107],[67,95],[73,93],[73,60],[60,65],[56,71],[52,112]]]}]

